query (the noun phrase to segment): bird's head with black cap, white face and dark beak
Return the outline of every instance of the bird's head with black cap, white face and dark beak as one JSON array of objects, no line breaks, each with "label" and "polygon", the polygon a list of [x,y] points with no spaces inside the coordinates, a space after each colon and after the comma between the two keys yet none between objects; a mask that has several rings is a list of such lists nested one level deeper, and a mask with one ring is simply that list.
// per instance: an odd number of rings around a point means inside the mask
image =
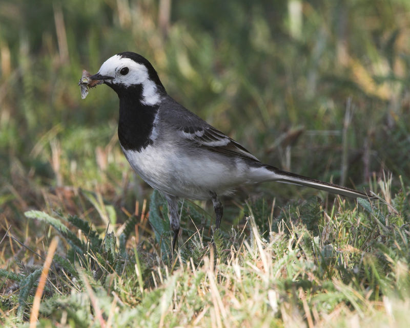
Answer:
[{"label": "bird's head with black cap, white face and dark beak", "polygon": [[136,95],[145,105],[155,105],[166,93],[151,63],[133,52],[122,52],[108,58],[98,73],[89,79],[94,85],[109,85],[120,98]]}]

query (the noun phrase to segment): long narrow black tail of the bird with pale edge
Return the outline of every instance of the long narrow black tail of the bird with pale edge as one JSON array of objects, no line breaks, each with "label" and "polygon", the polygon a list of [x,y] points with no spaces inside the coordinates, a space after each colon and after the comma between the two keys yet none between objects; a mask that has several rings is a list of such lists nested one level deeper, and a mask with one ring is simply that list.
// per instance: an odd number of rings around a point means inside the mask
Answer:
[{"label": "long narrow black tail of the bird with pale edge", "polygon": [[353,198],[367,198],[368,196],[360,191],[356,191],[350,188],[335,185],[333,183],[324,182],[308,177],[299,176],[299,174],[282,171],[274,166],[266,165],[268,170],[275,174],[274,181],[290,183],[299,186],[307,186],[320,190],[329,191],[331,193],[336,193],[343,196],[353,197]]}]

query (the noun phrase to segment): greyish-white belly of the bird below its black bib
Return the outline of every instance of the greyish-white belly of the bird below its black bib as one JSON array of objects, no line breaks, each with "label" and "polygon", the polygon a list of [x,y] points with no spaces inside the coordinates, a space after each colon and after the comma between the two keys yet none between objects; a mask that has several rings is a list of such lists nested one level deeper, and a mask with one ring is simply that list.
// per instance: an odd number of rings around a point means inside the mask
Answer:
[{"label": "greyish-white belly of the bird below its black bib", "polygon": [[176,154],[174,147],[155,147],[154,150],[151,145],[140,152],[122,150],[144,181],[174,196],[210,199],[210,192],[227,194],[237,185],[247,182],[249,170],[241,160],[224,160],[223,156],[211,152],[181,156]]}]

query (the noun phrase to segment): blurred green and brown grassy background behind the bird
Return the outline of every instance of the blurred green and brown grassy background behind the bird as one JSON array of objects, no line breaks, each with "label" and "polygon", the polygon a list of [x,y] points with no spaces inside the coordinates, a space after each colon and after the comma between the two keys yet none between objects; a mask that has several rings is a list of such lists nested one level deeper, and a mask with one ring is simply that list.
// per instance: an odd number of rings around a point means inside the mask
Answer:
[{"label": "blurred green and brown grassy background behind the bird", "polygon": [[[406,0],[2,0],[0,231],[30,208],[92,216],[81,190],[117,215],[149,197],[118,146],[115,93],[81,100],[77,85],[122,51],[267,163],[358,189],[383,170],[409,185],[409,32]],[[290,188],[252,193],[317,193]]]}]

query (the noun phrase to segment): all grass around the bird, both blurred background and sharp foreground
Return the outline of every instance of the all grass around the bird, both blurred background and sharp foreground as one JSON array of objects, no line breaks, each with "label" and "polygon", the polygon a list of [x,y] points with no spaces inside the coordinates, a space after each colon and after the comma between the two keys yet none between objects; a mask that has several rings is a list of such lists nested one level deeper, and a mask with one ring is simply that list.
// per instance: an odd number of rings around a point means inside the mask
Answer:
[{"label": "all grass around the bird, both blurred background and sharp foreground", "polygon": [[[0,4],[3,326],[409,326],[408,4],[288,5],[177,1],[159,29],[149,1]],[[239,188],[213,244],[185,201],[170,257],[115,95],[79,96],[125,50],[264,162],[376,196]]]}]

